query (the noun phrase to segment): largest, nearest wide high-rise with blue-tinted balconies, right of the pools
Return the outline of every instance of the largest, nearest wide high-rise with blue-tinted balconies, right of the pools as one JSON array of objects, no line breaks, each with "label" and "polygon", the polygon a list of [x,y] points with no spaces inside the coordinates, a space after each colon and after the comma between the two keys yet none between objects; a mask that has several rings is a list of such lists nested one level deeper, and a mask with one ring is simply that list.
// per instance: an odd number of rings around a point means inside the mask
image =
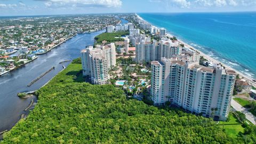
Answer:
[{"label": "largest, nearest wide high-rise with blue-tinted balconies, right of the pools", "polygon": [[195,114],[227,119],[236,73],[220,65],[208,68],[198,62],[162,58],[151,62],[151,95],[154,105],[182,107]]}]

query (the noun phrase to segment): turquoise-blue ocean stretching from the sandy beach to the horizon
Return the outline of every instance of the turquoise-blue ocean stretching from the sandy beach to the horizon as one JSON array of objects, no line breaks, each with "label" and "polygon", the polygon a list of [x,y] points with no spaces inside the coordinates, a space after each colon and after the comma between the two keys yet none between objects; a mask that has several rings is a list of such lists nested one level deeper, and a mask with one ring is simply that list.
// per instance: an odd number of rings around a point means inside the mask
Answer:
[{"label": "turquoise-blue ocean stretching from the sandy beach to the horizon", "polygon": [[244,75],[256,79],[256,12],[138,13]]}]

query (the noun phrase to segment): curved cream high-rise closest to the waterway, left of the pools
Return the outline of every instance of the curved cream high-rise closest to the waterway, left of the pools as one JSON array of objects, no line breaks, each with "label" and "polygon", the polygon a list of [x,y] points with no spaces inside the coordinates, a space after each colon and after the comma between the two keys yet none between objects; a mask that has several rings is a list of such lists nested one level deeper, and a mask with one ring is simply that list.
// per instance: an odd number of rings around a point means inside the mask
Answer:
[{"label": "curved cream high-rise closest to the waterway, left of the pools", "polygon": [[83,75],[91,78],[92,84],[108,84],[109,69],[116,65],[116,47],[114,43],[92,46],[81,51]]}]

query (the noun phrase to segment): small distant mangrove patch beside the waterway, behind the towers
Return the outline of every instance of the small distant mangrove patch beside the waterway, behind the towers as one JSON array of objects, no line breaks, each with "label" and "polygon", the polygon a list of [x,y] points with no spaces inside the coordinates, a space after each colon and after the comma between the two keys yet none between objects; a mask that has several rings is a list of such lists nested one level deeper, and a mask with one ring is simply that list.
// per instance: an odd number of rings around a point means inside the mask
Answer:
[{"label": "small distant mangrove patch beside the waterway, behind the towers", "polygon": [[98,36],[95,36],[95,44],[102,44],[102,41],[107,41],[107,43],[114,43],[119,41],[124,41],[124,38],[115,38],[129,35],[129,31],[118,31],[116,33],[102,33]]}]

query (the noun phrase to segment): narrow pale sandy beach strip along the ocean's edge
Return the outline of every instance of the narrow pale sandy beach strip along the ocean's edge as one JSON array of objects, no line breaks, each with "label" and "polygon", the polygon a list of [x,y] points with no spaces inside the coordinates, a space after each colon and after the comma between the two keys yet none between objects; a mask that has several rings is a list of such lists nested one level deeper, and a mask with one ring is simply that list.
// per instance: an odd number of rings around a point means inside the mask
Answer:
[{"label": "narrow pale sandy beach strip along the ocean's edge", "polygon": [[[140,20],[146,21],[146,20],[144,20],[143,18],[141,18],[137,13],[135,13],[135,15],[136,15]],[[147,22],[148,22],[148,21],[147,21]],[[151,24],[151,23],[150,23],[150,24]],[[152,25],[152,26],[154,26],[154,25]],[[156,27],[156,26],[155,26],[155,27]],[[174,35],[171,35],[171,34],[169,34],[169,33],[166,33],[166,36],[173,37]],[[236,73],[237,73],[239,76],[246,78],[254,87],[256,87],[256,82],[253,81],[254,79],[253,79],[252,77],[246,76],[245,74],[241,73],[241,71],[239,71],[239,70],[237,70],[237,69],[235,69],[235,68],[232,68],[232,67],[228,66],[227,64],[225,64],[225,63],[223,63],[223,62],[221,62],[221,61],[219,61],[219,60],[217,60],[217,59],[212,58],[210,55],[207,55],[206,53],[204,53],[204,52],[202,52],[202,51],[196,49],[194,46],[191,46],[191,45],[185,43],[185,42],[182,41],[181,39],[178,39],[178,38],[177,38],[177,41],[180,42],[181,44],[184,44],[184,47],[186,47],[186,48],[188,48],[188,49],[190,49],[190,50],[196,50],[196,51],[198,51],[198,52],[200,53],[200,55],[203,56],[205,59],[210,60],[210,61],[212,61],[212,62],[214,62],[214,63],[221,63],[221,65],[224,66],[225,69],[235,70]]]}]

